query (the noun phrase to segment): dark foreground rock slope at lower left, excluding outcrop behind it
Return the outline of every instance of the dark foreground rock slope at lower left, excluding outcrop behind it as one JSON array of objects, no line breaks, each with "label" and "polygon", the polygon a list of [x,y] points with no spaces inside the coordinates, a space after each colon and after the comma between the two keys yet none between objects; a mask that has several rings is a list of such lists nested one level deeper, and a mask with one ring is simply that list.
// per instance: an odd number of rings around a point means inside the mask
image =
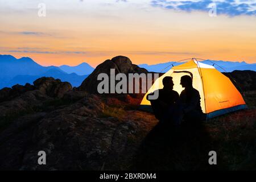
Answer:
[{"label": "dark foreground rock slope at lower left, excluding outcrop behind it", "polygon": [[[151,114],[122,113],[93,95],[63,107],[14,120],[0,134],[0,168],[127,169],[143,134],[156,122]],[[38,165],[39,151],[46,151],[47,166]]]}]

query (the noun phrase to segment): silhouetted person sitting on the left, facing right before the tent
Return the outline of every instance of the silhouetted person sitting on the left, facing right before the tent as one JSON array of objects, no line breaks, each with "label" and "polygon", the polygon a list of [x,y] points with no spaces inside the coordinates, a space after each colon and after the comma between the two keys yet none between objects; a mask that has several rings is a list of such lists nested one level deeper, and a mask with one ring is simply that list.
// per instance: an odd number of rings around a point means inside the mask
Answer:
[{"label": "silhouetted person sitting on the left, facing right before the tent", "polygon": [[[151,102],[156,119],[166,121],[171,117],[170,111],[172,111],[177,100],[179,100],[179,94],[172,90],[174,88],[172,77],[166,76],[163,78],[162,82],[163,89],[155,90],[153,93],[148,94],[147,100]],[[156,100],[150,100],[148,96],[155,95],[155,92],[158,92],[158,98],[156,98]]]}]

